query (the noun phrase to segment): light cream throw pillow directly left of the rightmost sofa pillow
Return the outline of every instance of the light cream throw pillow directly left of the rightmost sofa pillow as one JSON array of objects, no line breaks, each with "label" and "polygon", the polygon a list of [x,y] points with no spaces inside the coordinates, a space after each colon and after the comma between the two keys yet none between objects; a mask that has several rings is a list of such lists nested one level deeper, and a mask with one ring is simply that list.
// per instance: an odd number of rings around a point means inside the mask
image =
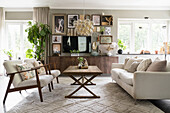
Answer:
[{"label": "light cream throw pillow directly left of the rightmost sofa pillow", "polygon": [[137,71],[146,71],[150,64],[152,63],[151,59],[143,60],[137,67]]}]

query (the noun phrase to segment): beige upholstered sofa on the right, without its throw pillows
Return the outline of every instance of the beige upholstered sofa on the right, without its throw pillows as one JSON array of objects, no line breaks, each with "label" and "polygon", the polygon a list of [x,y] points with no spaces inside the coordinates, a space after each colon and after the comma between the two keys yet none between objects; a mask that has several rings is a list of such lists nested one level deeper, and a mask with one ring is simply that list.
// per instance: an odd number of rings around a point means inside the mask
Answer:
[{"label": "beige upholstered sofa on the right, without its throw pillows", "polygon": [[[170,68],[170,66],[167,66]],[[134,99],[170,99],[170,72],[128,72],[113,63],[111,77]]]}]

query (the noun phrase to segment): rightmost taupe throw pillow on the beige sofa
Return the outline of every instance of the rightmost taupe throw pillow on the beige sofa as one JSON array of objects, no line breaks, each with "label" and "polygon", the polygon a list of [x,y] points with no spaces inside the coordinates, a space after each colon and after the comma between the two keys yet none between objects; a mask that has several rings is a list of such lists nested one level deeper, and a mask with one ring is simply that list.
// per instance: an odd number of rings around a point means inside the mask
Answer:
[{"label": "rightmost taupe throw pillow on the beige sofa", "polygon": [[152,72],[164,72],[166,71],[166,60],[155,60],[146,71],[152,71]]}]

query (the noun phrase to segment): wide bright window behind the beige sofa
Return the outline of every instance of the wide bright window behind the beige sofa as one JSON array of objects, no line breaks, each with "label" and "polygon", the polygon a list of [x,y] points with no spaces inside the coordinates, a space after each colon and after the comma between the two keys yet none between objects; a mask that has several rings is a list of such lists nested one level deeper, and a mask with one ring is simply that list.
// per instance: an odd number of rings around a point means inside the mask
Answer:
[{"label": "wide bright window behind the beige sofa", "polygon": [[118,38],[127,46],[126,51],[140,53],[160,50],[168,40],[168,20],[119,20]]}]

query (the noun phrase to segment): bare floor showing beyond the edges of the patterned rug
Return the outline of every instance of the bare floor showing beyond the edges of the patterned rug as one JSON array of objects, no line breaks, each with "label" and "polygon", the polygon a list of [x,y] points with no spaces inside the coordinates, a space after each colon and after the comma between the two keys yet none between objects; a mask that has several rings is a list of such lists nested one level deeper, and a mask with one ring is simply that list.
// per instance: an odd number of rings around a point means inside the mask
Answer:
[{"label": "bare floor showing beyond the edges of the patterned rug", "polygon": [[[109,77],[108,75],[104,76]],[[17,103],[22,101],[22,99],[28,96],[31,92],[37,90],[37,88],[35,88],[27,91],[22,91],[22,94],[20,94],[19,92],[9,93],[5,104],[6,109],[4,109],[2,102],[8,85],[8,81],[9,81],[8,77],[0,76],[0,113],[8,111],[12,107],[14,107]],[[163,110],[165,113],[170,113],[170,100],[150,100],[150,102],[152,102],[155,106]]]}]

